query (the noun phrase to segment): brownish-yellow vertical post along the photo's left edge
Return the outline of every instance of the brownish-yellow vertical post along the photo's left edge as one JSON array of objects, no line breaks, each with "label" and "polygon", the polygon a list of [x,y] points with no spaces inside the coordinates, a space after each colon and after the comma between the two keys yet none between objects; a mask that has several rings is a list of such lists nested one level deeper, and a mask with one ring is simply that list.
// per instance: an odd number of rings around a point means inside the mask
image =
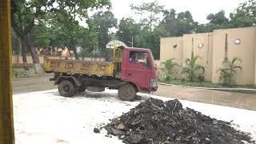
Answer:
[{"label": "brownish-yellow vertical post along the photo's left edge", "polygon": [[0,143],[14,143],[10,0],[0,2]]}]

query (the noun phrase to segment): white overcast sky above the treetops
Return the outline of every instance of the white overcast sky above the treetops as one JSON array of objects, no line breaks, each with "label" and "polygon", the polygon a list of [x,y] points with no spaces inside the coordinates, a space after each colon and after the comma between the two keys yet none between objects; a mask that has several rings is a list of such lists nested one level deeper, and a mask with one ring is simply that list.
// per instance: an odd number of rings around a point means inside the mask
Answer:
[{"label": "white overcast sky above the treetops", "polygon": [[[154,0],[111,0],[113,13],[118,20],[125,17],[138,19],[130,10],[130,4],[140,5],[143,2],[154,2]],[[238,7],[239,3],[246,0],[157,0],[160,5],[165,6],[166,10],[174,9],[177,12],[190,10],[194,21],[206,23],[206,16],[210,13],[217,13],[219,10],[225,10],[226,16],[229,17]]]}]

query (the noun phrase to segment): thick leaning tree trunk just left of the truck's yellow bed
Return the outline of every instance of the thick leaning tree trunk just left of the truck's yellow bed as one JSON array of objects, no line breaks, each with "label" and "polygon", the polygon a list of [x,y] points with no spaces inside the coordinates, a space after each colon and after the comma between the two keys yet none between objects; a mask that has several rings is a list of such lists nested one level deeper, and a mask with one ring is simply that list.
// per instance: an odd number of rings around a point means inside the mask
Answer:
[{"label": "thick leaning tree trunk just left of the truck's yellow bed", "polygon": [[30,34],[26,34],[25,43],[26,43],[27,48],[30,50],[30,53],[31,53],[31,56],[33,59],[35,74],[43,74],[42,67],[39,62],[38,54],[31,42],[31,39],[30,39]]}]

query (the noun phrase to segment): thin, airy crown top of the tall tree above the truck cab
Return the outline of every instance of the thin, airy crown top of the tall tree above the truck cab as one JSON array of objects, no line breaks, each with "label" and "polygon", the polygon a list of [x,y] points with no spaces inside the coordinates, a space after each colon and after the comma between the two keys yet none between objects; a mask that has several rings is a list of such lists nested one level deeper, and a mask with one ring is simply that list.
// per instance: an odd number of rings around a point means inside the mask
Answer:
[{"label": "thin, airy crown top of the tall tree above the truck cab", "polygon": [[[142,3],[141,6],[130,5],[131,10],[134,10],[135,14],[143,15],[141,23],[146,26],[150,32],[153,31],[154,26],[157,26],[160,22],[160,16],[163,14],[164,6],[160,6],[158,2]],[[146,17],[146,15],[148,17]]]}]

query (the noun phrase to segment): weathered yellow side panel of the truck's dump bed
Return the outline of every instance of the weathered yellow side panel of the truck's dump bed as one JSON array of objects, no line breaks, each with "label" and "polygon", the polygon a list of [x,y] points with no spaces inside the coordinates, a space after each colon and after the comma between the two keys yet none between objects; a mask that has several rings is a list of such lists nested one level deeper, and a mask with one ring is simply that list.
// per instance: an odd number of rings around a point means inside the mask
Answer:
[{"label": "weathered yellow side panel of the truck's dump bed", "polygon": [[45,58],[46,72],[61,72],[67,74],[88,74],[98,76],[114,76],[114,62],[94,62],[69,59]]}]

